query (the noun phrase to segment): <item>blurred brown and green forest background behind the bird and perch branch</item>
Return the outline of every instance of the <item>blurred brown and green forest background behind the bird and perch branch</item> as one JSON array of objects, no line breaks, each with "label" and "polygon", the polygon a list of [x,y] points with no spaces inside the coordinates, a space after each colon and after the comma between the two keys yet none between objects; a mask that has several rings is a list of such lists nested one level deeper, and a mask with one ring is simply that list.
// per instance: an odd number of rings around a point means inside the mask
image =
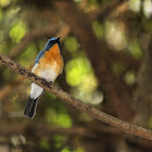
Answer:
[{"label": "blurred brown and green forest background behind the bird and perch branch", "polygon": [[[152,129],[151,0],[0,0],[0,52],[31,69],[61,37],[64,71],[54,85],[121,119]],[[23,116],[30,81],[0,64],[0,152],[151,152],[50,92]]]}]

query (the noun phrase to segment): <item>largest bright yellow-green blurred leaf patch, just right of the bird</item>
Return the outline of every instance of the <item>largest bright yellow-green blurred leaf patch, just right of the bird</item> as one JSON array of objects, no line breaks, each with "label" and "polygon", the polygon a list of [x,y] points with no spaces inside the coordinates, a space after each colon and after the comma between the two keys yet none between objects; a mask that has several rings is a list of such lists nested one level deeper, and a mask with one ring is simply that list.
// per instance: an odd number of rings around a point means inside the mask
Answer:
[{"label": "largest bright yellow-green blurred leaf patch, just right of the bird", "polygon": [[68,61],[65,66],[65,72],[66,81],[69,86],[79,87],[81,91],[88,93],[97,88],[97,78],[86,56]]}]

